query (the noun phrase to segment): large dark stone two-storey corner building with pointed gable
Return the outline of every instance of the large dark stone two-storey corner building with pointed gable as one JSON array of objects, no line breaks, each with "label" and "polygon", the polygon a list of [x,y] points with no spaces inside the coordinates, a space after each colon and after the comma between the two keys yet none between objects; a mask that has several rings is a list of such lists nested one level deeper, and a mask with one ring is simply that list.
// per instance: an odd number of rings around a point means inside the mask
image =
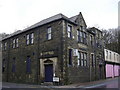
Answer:
[{"label": "large dark stone two-storey corner building with pointed gable", "polygon": [[96,47],[96,30],[87,29],[80,12],[71,18],[57,14],[5,37],[3,81],[70,84],[96,80],[97,55],[103,54]]}]

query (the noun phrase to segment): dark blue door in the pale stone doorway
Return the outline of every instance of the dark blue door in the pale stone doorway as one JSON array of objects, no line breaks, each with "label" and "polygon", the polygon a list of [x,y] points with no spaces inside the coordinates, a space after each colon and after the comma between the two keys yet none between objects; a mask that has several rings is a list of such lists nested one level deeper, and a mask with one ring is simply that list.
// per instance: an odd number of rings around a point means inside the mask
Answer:
[{"label": "dark blue door in the pale stone doorway", "polygon": [[53,82],[53,65],[45,65],[45,82]]}]

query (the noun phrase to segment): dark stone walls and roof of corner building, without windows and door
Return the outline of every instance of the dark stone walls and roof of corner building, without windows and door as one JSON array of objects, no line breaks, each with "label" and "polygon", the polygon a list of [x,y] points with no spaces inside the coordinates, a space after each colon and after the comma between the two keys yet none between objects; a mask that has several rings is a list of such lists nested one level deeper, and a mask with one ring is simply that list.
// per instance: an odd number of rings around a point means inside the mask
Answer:
[{"label": "dark stone walls and roof of corner building, without windows and door", "polygon": [[[71,38],[68,37],[68,25],[72,26]],[[87,34],[86,44],[77,41],[77,29],[80,29],[81,26],[84,27],[83,32]],[[50,40],[47,40],[48,27],[51,27]],[[96,34],[91,33],[91,30],[86,28],[81,13],[72,18],[58,14],[46,19],[46,23],[42,21],[21,33],[3,39],[3,44],[7,42],[7,49],[2,51],[3,60],[6,62],[3,81],[32,84],[44,83],[46,77],[45,65],[50,64],[53,65],[53,76],[59,77],[61,85],[104,78],[104,65],[99,65],[99,61],[104,57],[103,49],[90,46],[89,35],[91,34],[95,39],[97,38]],[[31,33],[34,33],[34,43],[27,45],[26,35]],[[15,38],[19,39],[19,47],[12,48],[13,39]],[[77,49],[80,52],[87,53],[87,66],[79,66],[77,64],[78,57],[74,55],[72,55],[72,65],[69,65],[69,49]],[[95,54],[95,67],[91,67],[90,54],[93,52]],[[99,54],[102,56],[99,57]],[[30,73],[26,72],[28,56],[31,60]],[[14,58],[15,72],[12,72]],[[100,68],[101,70],[99,70]]]}]

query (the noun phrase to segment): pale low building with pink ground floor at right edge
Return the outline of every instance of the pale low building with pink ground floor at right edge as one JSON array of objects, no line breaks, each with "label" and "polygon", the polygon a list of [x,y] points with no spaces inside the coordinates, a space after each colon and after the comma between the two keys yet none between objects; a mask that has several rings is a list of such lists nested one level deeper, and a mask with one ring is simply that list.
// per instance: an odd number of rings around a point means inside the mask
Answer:
[{"label": "pale low building with pink ground floor at right edge", "polygon": [[108,49],[104,49],[106,78],[120,76],[120,55]]}]

